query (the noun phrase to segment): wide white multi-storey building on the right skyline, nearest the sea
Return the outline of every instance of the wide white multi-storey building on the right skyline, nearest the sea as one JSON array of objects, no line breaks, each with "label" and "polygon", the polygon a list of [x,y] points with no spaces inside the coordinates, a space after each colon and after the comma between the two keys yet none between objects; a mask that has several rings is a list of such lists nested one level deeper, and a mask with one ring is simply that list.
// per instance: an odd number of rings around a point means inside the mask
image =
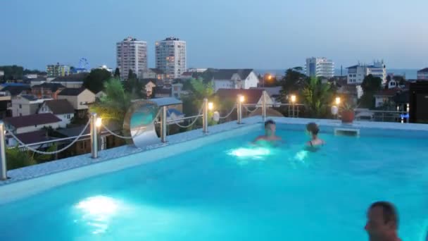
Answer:
[{"label": "wide white multi-storey building on the right skyline, nearest the sea", "polygon": [[382,79],[382,83],[386,82],[386,66],[384,61],[374,61],[373,65],[361,65],[348,67],[348,84],[360,85],[365,76],[373,75]]}]

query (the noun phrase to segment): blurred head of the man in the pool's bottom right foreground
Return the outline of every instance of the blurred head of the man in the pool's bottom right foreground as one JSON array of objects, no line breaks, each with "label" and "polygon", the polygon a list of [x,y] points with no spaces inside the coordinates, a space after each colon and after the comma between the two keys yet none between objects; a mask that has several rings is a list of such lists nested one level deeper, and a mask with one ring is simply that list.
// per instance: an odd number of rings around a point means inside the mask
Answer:
[{"label": "blurred head of the man in the pool's bottom right foreground", "polygon": [[390,202],[374,202],[367,211],[365,230],[370,241],[397,241],[398,213]]}]

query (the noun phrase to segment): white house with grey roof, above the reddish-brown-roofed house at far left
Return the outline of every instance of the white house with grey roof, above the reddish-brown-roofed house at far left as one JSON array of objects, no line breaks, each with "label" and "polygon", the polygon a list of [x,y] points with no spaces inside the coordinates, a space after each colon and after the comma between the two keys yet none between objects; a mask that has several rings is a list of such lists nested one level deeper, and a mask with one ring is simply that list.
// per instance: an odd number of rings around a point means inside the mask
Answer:
[{"label": "white house with grey roof, above the reddish-brown-roofed house at far left", "polygon": [[11,99],[12,116],[28,116],[37,113],[43,102],[51,98],[39,99],[32,94],[20,94]]}]

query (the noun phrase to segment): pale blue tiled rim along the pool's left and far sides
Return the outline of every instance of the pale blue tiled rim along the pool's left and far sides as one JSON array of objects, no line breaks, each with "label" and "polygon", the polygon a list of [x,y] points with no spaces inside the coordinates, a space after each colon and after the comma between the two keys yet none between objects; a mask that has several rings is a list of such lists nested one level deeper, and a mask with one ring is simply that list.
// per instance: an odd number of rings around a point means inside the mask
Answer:
[{"label": "pale blue tiled rim along the pool's left and far sides", "polygon": [[[277,123],[289,124],[291,129],[303,128],[302,125],[309,122],[315,122],[322,127],[324,132],[330,132],[334,128],[354,128],[378,131],[394,130],[392,132],[423,133],[424,137],[428,137],[428,125],[421,124],[357,121],[352,125],[344,125],[339,120],[306,118],[272,119]],[[261,121],[262,118],[260,116],[255,116],[245,118],[243,120],[244,124],[241,125],[238,125],[236,121],[233,121],[210,126],[208,133],[203,133],[201,130],[191,130],[189,132],[171,135],[167,138],[168,143],[151,145],[145,149],[133,146],[116,147],[99,152],[98,159],[92,159],[90,154],[85,154],[82,156],[73,156],[67,159],[8,171],[8,177],[10,179],[0,181],[0,204],[11,202],[13,199],[22,198],[57,185],[70,183],[74,180],[81,180],[90,176],[141,165],[142,163],[156,161],[158,159],[186,152],[190,149],[196,149],[208,143],[232,137],[233,135],[243,135],[248,131],[260,128]],[[229,130],[235,131],[229,132]],[[220,132],[222,135],[215,135]],[[141,152],[145,153],[144,158],[127,158],[127,156],[131,154]]]}]

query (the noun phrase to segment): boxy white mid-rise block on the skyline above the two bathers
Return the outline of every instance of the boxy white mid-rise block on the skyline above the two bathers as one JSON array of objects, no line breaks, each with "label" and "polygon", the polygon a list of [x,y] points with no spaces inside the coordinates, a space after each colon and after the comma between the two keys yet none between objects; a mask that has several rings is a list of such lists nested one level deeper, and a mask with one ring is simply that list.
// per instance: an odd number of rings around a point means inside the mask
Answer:
[{"label": "boxy white mid-rise block on the skyline above the two bathers", "polygon": [[309,77],[334,77],[334,62],[327,58],[306,58],[306,75]]}]

